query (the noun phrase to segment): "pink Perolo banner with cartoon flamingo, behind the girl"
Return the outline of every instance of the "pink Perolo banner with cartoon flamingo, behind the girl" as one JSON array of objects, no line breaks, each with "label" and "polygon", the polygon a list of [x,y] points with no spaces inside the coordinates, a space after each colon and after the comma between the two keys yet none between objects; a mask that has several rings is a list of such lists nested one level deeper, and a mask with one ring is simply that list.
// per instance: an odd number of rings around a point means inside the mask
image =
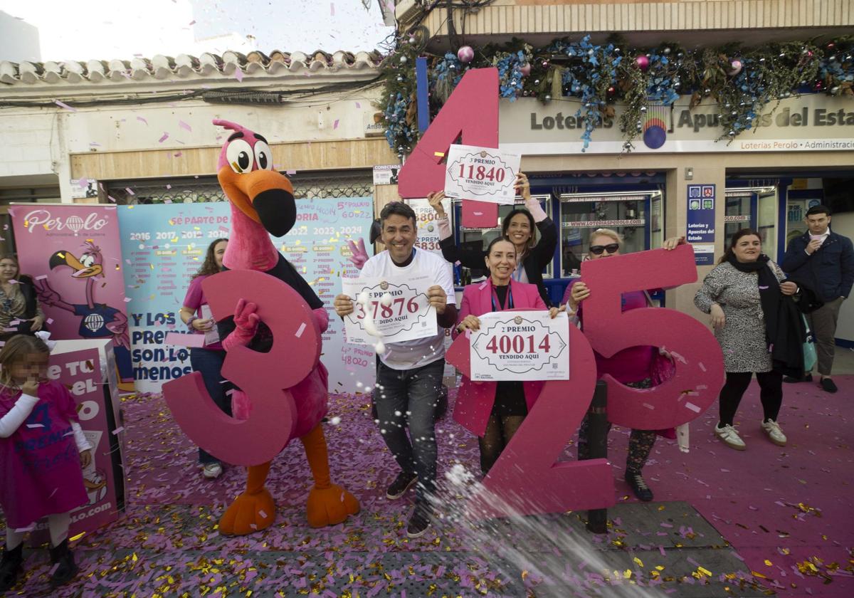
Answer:
[{"label": "pink Perolo banner with cartoon flamingo, behind the girl", "polygon": [[20,273],[32,277],[51,337],[112,339],[121,382],[133,382],[115,206],[9,208]]}]

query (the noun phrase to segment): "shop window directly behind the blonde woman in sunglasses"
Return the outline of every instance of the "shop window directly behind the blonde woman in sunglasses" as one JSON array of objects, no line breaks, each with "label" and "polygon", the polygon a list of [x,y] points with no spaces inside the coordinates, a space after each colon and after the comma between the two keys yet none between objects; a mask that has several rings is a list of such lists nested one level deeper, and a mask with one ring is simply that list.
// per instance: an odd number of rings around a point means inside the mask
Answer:
[{"label": "shop window directly behind the blonde woman in sunglasses", "polygon": [[[587,257],[590,233],[610,228],[623,236],[623,253],[660,247],[664,240],[661,191],[565,193],[560,196],[560,270],[572,276]],[[655,243],[655,245],[651,245]]]}]

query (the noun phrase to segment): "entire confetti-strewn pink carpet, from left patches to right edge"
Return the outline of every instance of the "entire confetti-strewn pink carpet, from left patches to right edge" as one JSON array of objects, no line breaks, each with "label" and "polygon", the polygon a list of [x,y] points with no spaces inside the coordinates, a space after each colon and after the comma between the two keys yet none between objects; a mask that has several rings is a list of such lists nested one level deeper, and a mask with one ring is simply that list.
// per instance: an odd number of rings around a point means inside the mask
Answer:
[{"label": "entire confetti-strewn pink carpet, from left patches to right edge", "polygon": [[[745,569],[764,576],[779,595],[854,596],[854,376],[836,381],[836,395],[815,384],[786,385],[779,418],[788,437],[786,448],[769,443],[759,429],[762,410],[754,382],[736,418],[746,451],[727,448],[713,436],[713,407],[693,422],[689,454],[660,439],[645,469],[656,501],[687,501],[696,507],[743,557]],[[365,403],[362,396],[330,401],[330,415],[342,417],[327,433],[334,477],[354,491],[366,512],[396,520],[405,512],[383,496],[395,466]],[[208,504],[218,511],[239,492],[243,473],[238,468],[227,469],[214,482],[196,473],[195,449],[160,397],[139,398],[125,407],[131,505]],[[440,475],[453,462],[476,466],[473,437],[449,417],[438,426],[438,439]],[[627,431],[611,432],[619,501],[635,500],[622,479],[627,439]],[[307,489],[301,450],[294,445],[285,448],[271,472],[270,487],[282,505],[302,504]],[[300,474],[293,475],[297,467]]]}]

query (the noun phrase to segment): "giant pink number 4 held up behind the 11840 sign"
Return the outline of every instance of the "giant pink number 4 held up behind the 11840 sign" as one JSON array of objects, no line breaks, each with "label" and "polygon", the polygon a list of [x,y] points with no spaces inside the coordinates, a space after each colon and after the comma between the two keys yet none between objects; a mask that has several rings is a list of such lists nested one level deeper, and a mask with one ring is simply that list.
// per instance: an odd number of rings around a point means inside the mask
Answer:
[{"label": "giant pink number 4 held up behind the 11840 sign", "polygon": [[[474,68],[463,75],[401,167],[397,186],[401,197],[426,197],[444,188],[443,158],[460,135],[466,145],[498,147],[497,68]],[[497,204],[463,200],[463,226],[492,228],[497,220]]]}]

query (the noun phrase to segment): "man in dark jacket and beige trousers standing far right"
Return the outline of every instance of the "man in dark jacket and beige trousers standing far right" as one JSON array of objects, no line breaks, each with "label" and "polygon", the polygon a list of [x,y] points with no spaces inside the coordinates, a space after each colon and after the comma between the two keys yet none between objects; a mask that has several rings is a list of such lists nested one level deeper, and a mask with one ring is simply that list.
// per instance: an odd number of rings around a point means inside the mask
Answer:
[{"label": "man in dark jacket and beige trousers standing far right", "polygon": [[[810,230],[792,239],[781,266],[792,278],[810,281],[824,302],[821,308],[806,317],[816,337],[820,384],[822,389],[836,392],[836,384],[830,378],[834,365],[836,320],[839,308],[854,284],[854,245],[850,238],[830,231],[830,208],[826,206],[807,210],[806,225]],[[806,372],[804,378],[787,377],[783,380],[810,381],[812,374]]]}]

